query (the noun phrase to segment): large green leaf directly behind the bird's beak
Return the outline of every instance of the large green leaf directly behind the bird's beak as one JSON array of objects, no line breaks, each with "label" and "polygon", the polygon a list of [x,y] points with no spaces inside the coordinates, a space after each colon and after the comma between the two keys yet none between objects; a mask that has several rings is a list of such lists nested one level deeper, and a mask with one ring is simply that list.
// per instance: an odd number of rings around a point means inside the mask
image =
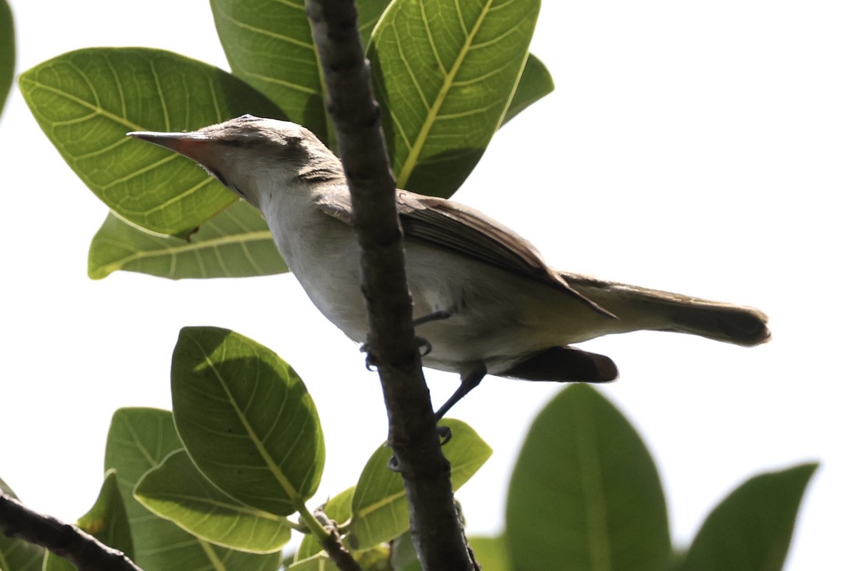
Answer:
[{"label": "large green leaf directly behind the bird's beak", "polygon": [[19,84],[87,187],[119,217],[164,235],[188,235],[236,197],[193,161],[125,134],[201,128],[243,113],[283,116],[221,69],[145,48],[72,51],[27,70]]}]

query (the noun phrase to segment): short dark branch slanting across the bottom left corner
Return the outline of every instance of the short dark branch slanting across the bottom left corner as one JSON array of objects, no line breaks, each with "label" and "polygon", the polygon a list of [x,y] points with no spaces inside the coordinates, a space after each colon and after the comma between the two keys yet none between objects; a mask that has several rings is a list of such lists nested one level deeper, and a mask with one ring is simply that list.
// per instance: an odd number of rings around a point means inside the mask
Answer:
[{"label": "short dark branch slanting across the bottom left corner", "polygon": [[79,571],[142,571],[120,550],[101,543],[79,527],[39,514],[0,490],[0,530],[50,550]]}]

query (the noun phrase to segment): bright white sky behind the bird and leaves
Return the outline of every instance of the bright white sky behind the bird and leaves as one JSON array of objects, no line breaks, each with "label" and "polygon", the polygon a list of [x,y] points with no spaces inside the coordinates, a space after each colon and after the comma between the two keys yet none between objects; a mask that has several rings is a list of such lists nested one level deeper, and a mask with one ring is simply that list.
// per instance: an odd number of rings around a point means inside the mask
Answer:
[{"label": "bright white sky behind the bird and leaves", "polygon": [[[93,45],[147,45],[226,68],[208,4],[11,0],[18,71]],[[787,567],[854,568],[857,6],[849,1],[547,0],[532,51],[556,91],[503,128],[456,199],[552,265],[758,306],[773,341],[744,349],[638,333],[605,388],[650,445],[684,544],[754,473],[818,460]],[[183,325],[219,325],[297,369],[327,436],[319,497],[357,480],[386,435],[375,375],[288,275],[87,278],[106,207],[19,92],[0,120],[0,475],[74,520],[96,497],[117,407],[170,408]],[[436,401],[455,387],[428,372]],[[498,532],[512,462],[558,385],[488,378],[453,415],[494,456],[458,497]],[[560,445],[560,443],[558,443]]]}]

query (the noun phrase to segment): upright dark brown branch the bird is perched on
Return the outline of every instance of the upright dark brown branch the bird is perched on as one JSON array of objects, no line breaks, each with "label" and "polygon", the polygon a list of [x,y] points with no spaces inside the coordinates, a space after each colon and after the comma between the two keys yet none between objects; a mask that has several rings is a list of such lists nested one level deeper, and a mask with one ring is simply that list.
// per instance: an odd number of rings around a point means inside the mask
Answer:
[{"label": "upright dark brown branch the bird is perched on", "polygon": [[458,520],[449,462],[440,451],[414,336],[396,182],[357,33],[357,9],[353,0],[307,0],[306,8],[351,189],[369,311],[368,344],[381,376],[388,440],[405,480],[417,555],[427,571],[472,571],[478,565]]}]

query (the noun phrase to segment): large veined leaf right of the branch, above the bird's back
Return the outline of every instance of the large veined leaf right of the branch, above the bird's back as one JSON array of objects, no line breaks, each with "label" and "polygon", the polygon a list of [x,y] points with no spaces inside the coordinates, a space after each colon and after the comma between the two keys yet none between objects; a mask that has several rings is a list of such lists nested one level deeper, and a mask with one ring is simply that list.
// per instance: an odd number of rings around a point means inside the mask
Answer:
[{"label": "large veined leaf right of the branch, above the bird's back", "polygon": [[397,0],[369,45],[399,187],[449,196],[500,127],[538,0]]}]

